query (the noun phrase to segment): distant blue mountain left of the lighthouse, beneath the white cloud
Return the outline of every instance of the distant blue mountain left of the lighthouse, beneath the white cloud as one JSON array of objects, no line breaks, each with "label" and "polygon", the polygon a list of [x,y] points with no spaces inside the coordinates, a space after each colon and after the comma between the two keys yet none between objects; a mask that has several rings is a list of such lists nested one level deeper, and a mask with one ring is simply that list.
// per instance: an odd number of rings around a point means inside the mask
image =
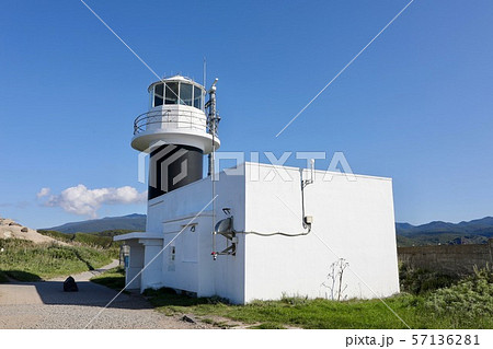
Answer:
[{"label": "distant blue mountain left of the lighthouse, beneath the white cloud", "polygon": [[133,213],[122,217],[105,217],[89,221],[71,222],[58,226],[44,228],[43,230],[55,230],[61,233],[95,233],[107,230],[131,230],[135,232],[146,231],[146,214]]}]

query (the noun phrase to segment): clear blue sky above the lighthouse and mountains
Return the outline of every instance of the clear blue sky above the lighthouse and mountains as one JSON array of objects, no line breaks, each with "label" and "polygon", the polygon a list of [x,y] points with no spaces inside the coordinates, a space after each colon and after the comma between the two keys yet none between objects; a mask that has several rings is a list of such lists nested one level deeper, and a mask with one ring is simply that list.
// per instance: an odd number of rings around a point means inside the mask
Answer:
[{"label": "clear blue sky above the lighthouse and mountains", "polygon": [[[200,82],[207,57],[221,150],[343,151],[393,178],[397,221],[493,216],[489,0],[415,0],[275,138],[408,2],[87,1],[161,75]],[[0,216],[87,219],[36,198],[79,185],[135,188],[98,217],[145,212],[129,141],[156,77],[78,0],[2,1],[0,26]]]}]

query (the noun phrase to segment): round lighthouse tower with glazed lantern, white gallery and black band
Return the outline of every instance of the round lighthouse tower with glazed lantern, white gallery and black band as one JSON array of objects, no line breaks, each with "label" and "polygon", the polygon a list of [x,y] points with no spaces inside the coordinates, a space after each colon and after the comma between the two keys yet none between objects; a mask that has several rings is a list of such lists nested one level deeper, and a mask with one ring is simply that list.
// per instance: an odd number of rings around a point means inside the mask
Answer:
[{"label": "round lighthouse tower with glazed lantern, white gallery and black band", "polygon": [[[197,82],[174,75],[151,83],[148,92],[149,109],[134,121],[131,147],[150,154],[151,200],[200,179],[204,155],[217,150],[220,141],[216,81],[207,92]],[[209,102],[205,103],[207,93]],[[209,168],[210,162],[209,156]]]}]

